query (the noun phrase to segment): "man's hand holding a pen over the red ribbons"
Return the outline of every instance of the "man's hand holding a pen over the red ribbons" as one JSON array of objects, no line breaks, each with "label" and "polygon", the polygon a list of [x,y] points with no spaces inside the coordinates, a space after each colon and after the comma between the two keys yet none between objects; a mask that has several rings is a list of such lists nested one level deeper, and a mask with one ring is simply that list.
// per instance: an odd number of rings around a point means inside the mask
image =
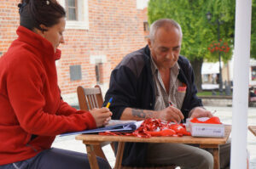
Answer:
[{"label": "man's hand holding a pen over the red ribbons", "polygon": [[159,119],[163,121],[180,122],[184,119],[183,113],[173,106],[169,106],[164,110],[160,110]]}]

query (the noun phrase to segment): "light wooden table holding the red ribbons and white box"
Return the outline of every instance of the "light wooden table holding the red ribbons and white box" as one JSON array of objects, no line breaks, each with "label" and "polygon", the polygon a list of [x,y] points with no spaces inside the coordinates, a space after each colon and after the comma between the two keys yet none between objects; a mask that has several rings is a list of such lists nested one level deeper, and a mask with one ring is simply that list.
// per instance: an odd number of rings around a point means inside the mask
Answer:
[{"label": "light wooden table holding the red ribbons and white box", "polygon": [[93,145],[101,144],[102,142],[119,142],[116,155],[115,169],[121,168],[124,148],[126,142],[137,143],[176,143],[176,144],[200,144],[201,148],[212,148],[214,158],[214,169],[219,169],[219,145],[225,144],[230,137],[230,126],[225,126],[224,138],[194,138],[191,136],[183,137],[152,137],[152,138],[137,138],[131,136],[102,136],[97,134],[81,134],[76,136],[76,139],[83,140],[86,146],[87,155],[90,161],[90,168],[98,169],[96,155],[93,151]]}]

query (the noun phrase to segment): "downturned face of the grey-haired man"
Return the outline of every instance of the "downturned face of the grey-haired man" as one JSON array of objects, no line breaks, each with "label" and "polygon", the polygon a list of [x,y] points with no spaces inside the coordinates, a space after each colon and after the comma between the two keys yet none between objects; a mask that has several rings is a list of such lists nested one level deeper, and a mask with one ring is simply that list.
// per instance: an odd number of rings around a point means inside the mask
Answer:
[{"label": "downturned face of the grey-haired man", "polygon": [[154,42],[148,40],[152,57],[158,69],[170,69],[177,62],[182,44],[182,33],[176,28],[159,28]]}]

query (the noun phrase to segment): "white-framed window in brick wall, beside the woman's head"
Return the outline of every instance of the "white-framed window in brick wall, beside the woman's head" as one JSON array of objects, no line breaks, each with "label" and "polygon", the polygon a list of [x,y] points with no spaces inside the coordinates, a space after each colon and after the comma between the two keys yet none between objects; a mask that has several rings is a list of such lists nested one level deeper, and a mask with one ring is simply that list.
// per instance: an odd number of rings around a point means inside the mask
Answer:
[{"label": "white-framed window in brick wall, beside the woman's head", "polygon": [[88,0],[58,0],[66,9],[66,29],[89,29]]}]

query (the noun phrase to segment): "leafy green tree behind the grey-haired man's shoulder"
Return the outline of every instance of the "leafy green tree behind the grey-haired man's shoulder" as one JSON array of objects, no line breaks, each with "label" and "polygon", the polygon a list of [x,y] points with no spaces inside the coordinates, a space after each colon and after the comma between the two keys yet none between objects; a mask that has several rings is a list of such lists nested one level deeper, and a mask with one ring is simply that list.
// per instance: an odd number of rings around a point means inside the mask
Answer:
[{"label": "leafy green tree behind the grey-haired man's shoulder", "polygon": [[[212,24],[207,20],[207,12],[212,13]],[[149,24],[154,20],[169,18],[176,20],[183,30],[181,54],[186,56],[195,71],[195,85],[201,91],[201,66],[204,60],[217,61],[218,56],[207,49],[213,41],[218,41],[215,20],[221,21],[220,38],[230,48],[234,42],[235,0],[150,0],[148,2]],[[230,59],[224,54],[224,61]]]}]

